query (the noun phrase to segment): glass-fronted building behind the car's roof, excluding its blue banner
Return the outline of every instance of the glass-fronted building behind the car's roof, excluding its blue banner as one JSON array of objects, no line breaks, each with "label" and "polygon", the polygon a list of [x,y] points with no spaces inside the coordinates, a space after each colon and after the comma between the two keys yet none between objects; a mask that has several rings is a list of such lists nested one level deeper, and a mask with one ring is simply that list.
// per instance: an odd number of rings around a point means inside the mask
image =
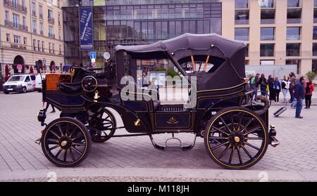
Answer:
[{"label": "glass-fronted building behind the car's roof, excluding its blue banner", "polygon": [[[71,2],[63,7],[66,63],[77,63],[76,60],[80,59],[87,65],[90,61],[89,51],[79,50],[78,6],[75,1],[74,4]],[[94,2],[93,34],[97,66],[104,65],[102,55],[105,51],[114,55],[118,44],[149,44],[187,32],[221,34],[221,3],[218,1],[85,2]],[[82,1],[81,5],[85,2]],[[160,4],[162,2],[164,4]]]}]

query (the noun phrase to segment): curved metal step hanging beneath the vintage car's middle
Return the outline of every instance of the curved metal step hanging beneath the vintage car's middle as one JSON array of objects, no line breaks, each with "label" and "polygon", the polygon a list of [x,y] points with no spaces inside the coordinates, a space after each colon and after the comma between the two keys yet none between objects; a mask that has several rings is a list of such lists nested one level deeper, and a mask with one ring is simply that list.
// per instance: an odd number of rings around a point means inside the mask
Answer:
[{"label": "curved metal step hanging beneath the vintage car's middle", "polygon": [[[194,141],[192,142],[192,144],[190,145],[185,145],[185,146],[182,146],[182,142],[180,141],[179,138],[175,138],[174,137],[174,133],[172,133],[172,138],[168,138],[166,141],[165,141],[165,145],[166,146],[161,146],[161,145],[158,145],[155,143],[154,141],[154,138],[152,137],[152,135],[150,134],[149,135],[150,139],[151,139],[151,143],[152,145],[154,146],[154,148],[156,149],[159,149],[159,150],[164,150],[164,151],[186,151],[186,150],[190,150],[194,147],[195,145],[195,142],[196,142],[196,138],[197,138],[197,135],[194,134]],[[180,142],[180,145],[178,146],[175,146],[175,145],[168,145],[168,141],[170,140],[178,140]]]}]

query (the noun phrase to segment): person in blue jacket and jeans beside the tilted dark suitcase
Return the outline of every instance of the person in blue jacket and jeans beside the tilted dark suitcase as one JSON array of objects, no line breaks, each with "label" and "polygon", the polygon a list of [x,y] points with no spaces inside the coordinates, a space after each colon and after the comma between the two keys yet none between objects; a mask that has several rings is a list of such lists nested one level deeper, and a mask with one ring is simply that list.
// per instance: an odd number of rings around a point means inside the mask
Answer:
[{"label": "person in blue jacket and jeans beside the tilted dark suitcase", "polygon": [[299,82],[297,82],[295,86],[294,98],[296,98],[297,100],[295,117],[299,119],[303,118],[303,116],[301,116],[301,112],[303,107],[303,100],[305,98],[305,82],[305,77],[300,77]]}]

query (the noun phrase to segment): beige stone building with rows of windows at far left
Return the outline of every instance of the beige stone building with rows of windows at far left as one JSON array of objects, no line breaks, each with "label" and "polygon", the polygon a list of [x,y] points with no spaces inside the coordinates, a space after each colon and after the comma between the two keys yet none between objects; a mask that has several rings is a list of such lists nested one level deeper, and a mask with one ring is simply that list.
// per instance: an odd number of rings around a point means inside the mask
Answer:
[{"label": "beige stone building with rows of windows at far left", "polygon": [[[0,4],[2,75],[6,70],[10,74],[35,71],[35,61],[46,71],[61,69],[64,44],[60,1],[1,0]],[[22,65],[22,70],[18,70],[17,65]]]}]

